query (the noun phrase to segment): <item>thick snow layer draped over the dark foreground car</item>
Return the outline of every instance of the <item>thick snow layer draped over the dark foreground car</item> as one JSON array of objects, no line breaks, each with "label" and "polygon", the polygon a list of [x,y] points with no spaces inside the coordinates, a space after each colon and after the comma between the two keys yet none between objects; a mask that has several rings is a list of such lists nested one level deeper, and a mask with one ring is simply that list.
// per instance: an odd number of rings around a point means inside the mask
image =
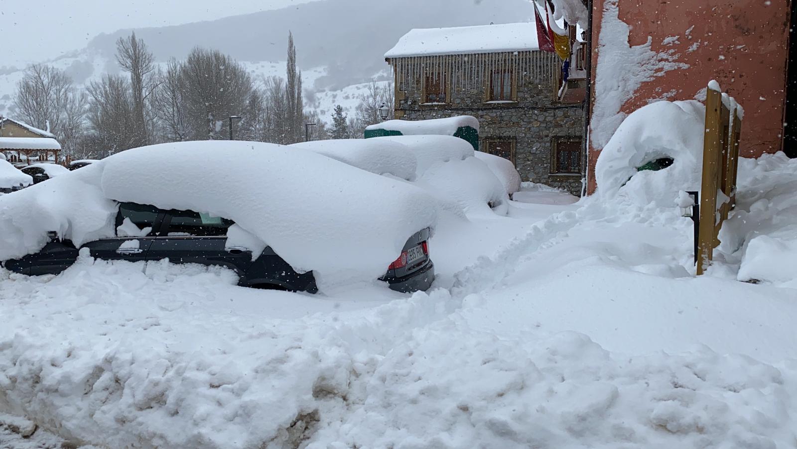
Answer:
[{"label": "thick snow layer draped over the dark foreground car", "polygon": [[0,260],[38,251],[48,231],[77,246],[112,236],[114,201],[229,218],[297,271],[315,271],[320,287],[383,275],[406,239],[434,226],[437,213],[421,189],[311,151],[165,143],[0,197]]}]

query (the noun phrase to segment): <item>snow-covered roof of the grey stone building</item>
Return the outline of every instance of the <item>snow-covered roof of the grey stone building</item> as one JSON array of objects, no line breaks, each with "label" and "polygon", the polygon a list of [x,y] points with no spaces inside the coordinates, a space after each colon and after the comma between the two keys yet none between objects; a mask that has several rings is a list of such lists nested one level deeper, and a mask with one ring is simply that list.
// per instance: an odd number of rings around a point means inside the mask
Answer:
[{"label": "snow-covered roof of the grey stone building", "polygon": [[410,29],[386,58],[539,50],[534,22]]}]

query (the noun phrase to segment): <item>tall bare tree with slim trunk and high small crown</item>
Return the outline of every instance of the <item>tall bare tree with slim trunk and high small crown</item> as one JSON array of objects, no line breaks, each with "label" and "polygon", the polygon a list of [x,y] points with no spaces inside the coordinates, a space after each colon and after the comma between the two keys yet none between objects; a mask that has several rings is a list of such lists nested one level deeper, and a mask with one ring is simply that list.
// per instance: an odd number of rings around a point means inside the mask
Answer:
[{"label": "tall bare tree with slim trunk and high small crown", "polygon": [[136,145],[147,145],[147,119],[144,101],[145,82],[147,76],[155,69],[152,53],[147,49],[144,41],[135,37],[135,32],[128,37],[120,37],[116,41],[116,61],[120,67],[130,73],[130,89],[133,102],[133,123],[136,131]]}]

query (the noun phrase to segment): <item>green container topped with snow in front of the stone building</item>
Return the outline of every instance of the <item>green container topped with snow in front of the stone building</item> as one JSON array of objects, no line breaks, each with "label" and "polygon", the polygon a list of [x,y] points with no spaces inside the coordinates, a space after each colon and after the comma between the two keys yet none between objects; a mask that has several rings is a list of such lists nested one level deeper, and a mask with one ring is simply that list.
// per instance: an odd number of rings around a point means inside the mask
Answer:
[{"label": "green container topped with snow in front of the stone building", "polygon": [[387,120],[365,128],[365,138],[387,135],[453,135],[479,150],[479,120],[470,115],[457,115],[446,119]]}]

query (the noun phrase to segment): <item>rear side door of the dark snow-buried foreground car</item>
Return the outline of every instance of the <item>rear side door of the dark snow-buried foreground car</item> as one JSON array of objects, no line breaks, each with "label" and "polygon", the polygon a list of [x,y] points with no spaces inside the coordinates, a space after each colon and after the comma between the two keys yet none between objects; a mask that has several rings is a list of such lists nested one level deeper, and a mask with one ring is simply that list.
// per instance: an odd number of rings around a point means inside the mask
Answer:
[{"label": "rear side door of the dark snow-buried foreground car", "polygon": [[231,225],[230,220],[206,213],[168,210],[161,234],[149,247],[147,260],[168,258],[173,264],[219,265],[242,275],[252,264],[252,252],[227,246],[227,228]]}]

